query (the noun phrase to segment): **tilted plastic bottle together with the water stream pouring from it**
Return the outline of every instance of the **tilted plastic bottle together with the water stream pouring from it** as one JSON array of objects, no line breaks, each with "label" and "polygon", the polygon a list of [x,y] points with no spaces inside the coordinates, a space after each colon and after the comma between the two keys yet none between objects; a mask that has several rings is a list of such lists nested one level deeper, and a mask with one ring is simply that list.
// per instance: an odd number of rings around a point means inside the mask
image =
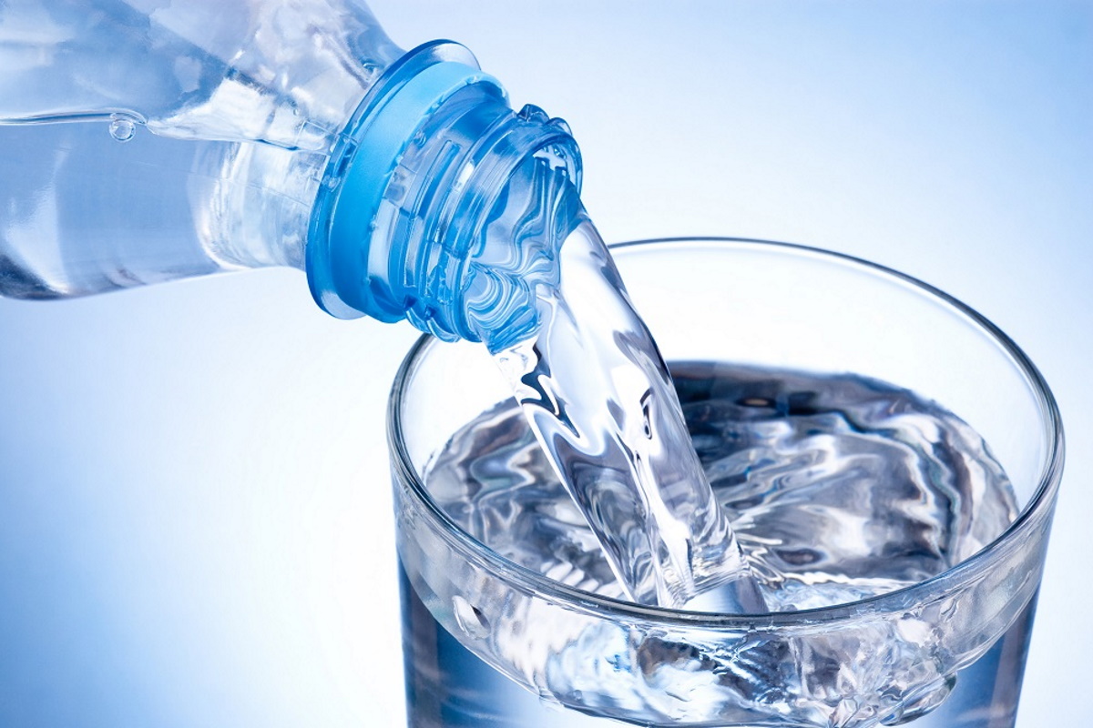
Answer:
[{"label": "tilted plastic bottle together with the water stream pouring from it", "polygon": [[482,341],[635,600],[761,610],[568,128],[466,48],[354,0],[0,0],[0,294],[287,265]]}]

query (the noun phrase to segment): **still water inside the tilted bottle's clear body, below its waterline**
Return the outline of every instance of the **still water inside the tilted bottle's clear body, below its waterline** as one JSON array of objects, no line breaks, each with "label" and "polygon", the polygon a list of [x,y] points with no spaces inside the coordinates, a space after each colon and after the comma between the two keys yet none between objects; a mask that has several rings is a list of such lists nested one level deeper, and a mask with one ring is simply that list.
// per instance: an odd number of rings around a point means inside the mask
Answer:
[{"label": "still water inside the tilted bottle's clear body, below its waterline", "polygon": [[[0,128],[0,295],[85,296],[302,265],[320,155],[145,131],[119,143],[107,126]],[[255,202],[262,214],[245,214]]]}]

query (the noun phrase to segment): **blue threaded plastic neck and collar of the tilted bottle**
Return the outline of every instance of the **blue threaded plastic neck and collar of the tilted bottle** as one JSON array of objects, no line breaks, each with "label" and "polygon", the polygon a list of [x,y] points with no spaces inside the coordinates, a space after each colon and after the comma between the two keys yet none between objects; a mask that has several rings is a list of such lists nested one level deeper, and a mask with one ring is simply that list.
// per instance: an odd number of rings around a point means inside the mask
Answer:
[{"label": "blue threaded plastic neck and collar of the tilted bottle", "polygon": [[528,327],[533,286],[506,263],[528,251],[498,254],[505,241],[490,228],[529,167],[576,196],[580,156],[563,121],[536,107],[514,112],[461,46],[411,51],[361,105],[327,167],[306,251],[316,301],[339,318],[409,319],[444,339]]}]

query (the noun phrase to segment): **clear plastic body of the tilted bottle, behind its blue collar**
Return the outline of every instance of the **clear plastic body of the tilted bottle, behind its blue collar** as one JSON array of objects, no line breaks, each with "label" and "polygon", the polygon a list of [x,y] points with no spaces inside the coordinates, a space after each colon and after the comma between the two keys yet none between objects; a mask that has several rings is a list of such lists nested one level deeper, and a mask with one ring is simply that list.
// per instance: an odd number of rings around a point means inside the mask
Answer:
[{"label": "clear plastic body of the tilted bottle, behind its blue collar", "polygon": [[351,0],[0,8],[0,295],[304,266],[354,109],[402,51]]}]

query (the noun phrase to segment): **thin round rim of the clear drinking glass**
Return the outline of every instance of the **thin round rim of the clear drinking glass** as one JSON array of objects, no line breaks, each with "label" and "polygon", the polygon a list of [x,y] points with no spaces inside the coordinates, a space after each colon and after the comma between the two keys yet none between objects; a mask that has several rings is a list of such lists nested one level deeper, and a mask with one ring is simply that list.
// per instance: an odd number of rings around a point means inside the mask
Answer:
[{"label": "thin round rim of the clear drinking glass", "polygon": [[428,353],[428,350],[440,344],[436,337],[425,334],[418,338],[407,356],[402,360],[391,386],[387,409],[387,440],[392,460],[392,467],[404,478],[413,496],[432,515],[442,527],[442,533],[448,544],[461,550],[469,551],[475,558],[489,562],[492,565],[491,572],[498,578],[513,583],[524,590],[533,593],[539,598],[550,598],[554,601],[565,604],[572,608],[583,609],[612,619],[640,619],[656,620],[663,624],[677,624],[694,628],[710,629],[776,629],[806,625],[816,623],[844,621],[860,618],[865,614],[880,614],[885,612],[903,612],[910,605],[926,604],[939,595],[949,593],[945,586],[950,584],[971,584],[985,571],[992,557],[1007,545],[1018,541],[1021,536],[1030,529],[1035,528],[1037,523],[1043,521],[1043,512],[1049,508],[1055,493],[1058,490],[1062,475],[1062,464],[1065,454],[1065,440],[1062,431],[1062,419],[1055,395],[1048,387],[1047,382],[1039,370],[1032,362],[1024,351],[989,319],[963,303],[949,294],[919,281],[913,276],[901,273],[893,268],[872,263],[870,261],[838,253],[822,248],[802,246],[797,243],[778,242],[774,240],[762,240],[755,238],[733,238],[733,237],[674,237],[674,238],[651,238],[646,240],[633,240],[609,246],[612,252],[633,248],[649,250],[653,248],[667,247],[695,247],[708,244],[709,247],[724,248],[753,248],[757,250],[774,250],[780,253],[812,256],[823,261],[838,263],[848,267],[858,267],[870,273],[878,278],[890,278],[894,283],[908,285],[917,293],[926,295],[949,306],[959,315],[963,315],[986,333],[996,344],[1000,345],[1003,353],[1015,365],[1024,377],[1032,393],[1035,395],[1043,418],[1043,427],[1046,430],[1046,441],[1048,451],[1044,458],[1044,465],[1039,472],[1036,489],[1029,502],[1021,509],[1021,513],[1002,534],[986,547],[964,559],[950,569],[936,574],[921,582],[893,589],[877,596],[856,601],[828,606],[800,609],[795,611],[756,612],[747,614],[726,614],[719,612],[703,612],[673,609],[669,607],[655,607],[638,605],[632,601],[606,597],[591,592],[586,592],[577,587],[568,586],[555,582],[543,574],[517,564],[501,554],[496,553],[487,546],[472,537],[455,523],[430,497],[424,482],[418,476],[410,453],[407,451],[402,440],[402,417],[399,403],[402,399],[411,378],[416,371],[416,363]]}]

